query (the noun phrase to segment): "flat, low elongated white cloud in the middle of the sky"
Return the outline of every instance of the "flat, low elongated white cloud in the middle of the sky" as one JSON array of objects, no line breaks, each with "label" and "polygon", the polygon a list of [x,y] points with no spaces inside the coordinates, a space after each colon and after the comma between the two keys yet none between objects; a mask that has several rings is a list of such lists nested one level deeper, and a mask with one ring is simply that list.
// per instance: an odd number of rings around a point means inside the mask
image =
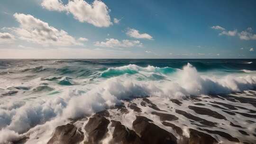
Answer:
[{"label": "flat, low elongated white cloud in the middle of the sky", "polygon": [[133,46],[142,46],[142,43],[138,40],[121,40],[114,38],[106,38],[106,42],[95,42],[95,46],[103,46],[103,47],[133,47]]}]

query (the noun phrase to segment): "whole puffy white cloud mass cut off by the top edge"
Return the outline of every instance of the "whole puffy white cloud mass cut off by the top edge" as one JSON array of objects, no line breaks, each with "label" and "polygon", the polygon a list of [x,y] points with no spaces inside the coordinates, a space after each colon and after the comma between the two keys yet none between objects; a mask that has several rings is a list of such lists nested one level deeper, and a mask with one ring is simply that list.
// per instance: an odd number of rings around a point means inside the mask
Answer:
[{"label": "whole puffy white cloud mass cut off by the top edge", "polygon": [[69,0],[66,5],[61,0],[43,0],[41,5],[48,10],[67,11],[80,22],[87,22],[96,27],[109,27],[112,25],[109,15],[110,10],[100,0],[94,0],[92,4],[84,0]]}]

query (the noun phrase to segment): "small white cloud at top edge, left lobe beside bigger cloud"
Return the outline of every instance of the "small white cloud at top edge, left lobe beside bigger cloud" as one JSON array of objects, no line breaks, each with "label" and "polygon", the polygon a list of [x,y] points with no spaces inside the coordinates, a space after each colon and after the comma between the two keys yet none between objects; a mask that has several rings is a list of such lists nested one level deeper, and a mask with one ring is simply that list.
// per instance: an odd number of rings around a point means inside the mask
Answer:
[{"label": "small white cloud at top edge, left lobe beside bigger cloud", "polygon": [[43,0],[42,7],[51,11],[64,11],[66,7],[61,0]]}]

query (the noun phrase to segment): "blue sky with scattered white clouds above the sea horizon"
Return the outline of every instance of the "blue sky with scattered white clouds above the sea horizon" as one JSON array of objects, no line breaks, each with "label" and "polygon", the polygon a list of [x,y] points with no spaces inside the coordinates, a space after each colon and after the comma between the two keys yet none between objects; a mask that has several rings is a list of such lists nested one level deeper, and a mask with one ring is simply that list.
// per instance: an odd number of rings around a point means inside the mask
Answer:
[{"label": "blue sky with scattered white clouds above the sea horizon", "polygon": [[0,58],[256,58],[256,0],[0,0]]}]

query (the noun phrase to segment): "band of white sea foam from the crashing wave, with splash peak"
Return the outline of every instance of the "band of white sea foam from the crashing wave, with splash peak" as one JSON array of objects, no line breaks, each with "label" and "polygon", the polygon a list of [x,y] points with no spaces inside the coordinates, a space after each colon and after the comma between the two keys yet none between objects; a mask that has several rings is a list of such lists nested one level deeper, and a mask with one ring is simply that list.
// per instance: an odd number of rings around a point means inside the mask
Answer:
[{"label": "band of white sea foam from the crashing wave, with splash peak", "polygon": [[[132,64],[115,69],[123,70],[127,67],[144,72],[155,72],[157,69],[153,66],[142,68]],[[33,128],[34,131],[37,131],[37,127],[42,125],[40,130],[47,127],[47,131],[51,132],[60,121],[61,124],[68,118],[91,115],[105,108],[111,108],[119,104],[122,99],[145,96],[179,99],[186,95],[250,90],[255,86],[256,76],[229,75],[221,78],[201,76],[188,63],[183,70],[176,72],[173,81],[137,81],[136,78],[121,75],[105,80],[101,79],[99,84],[90,85],[86,93],[79,92],[81,87],[87,87],[85,85],[64,89],[62,93],[52,98],[40,97],[28,101],[12,99],[9,103],[2,103],[0,106],[0,134],[6,132],[6,136],[0,139],[0,144],[17,139],[20,136],[18,133],[26,133],[34,126],[36,126]],[[55,125],[44,126],[50,125],[50,122],[54,122]],[[29,130],[29,134],[32,134],[31,131]],[[35,133],[33,134],[35,135]],[[44,137],[45,134],[38,135]]]}]

